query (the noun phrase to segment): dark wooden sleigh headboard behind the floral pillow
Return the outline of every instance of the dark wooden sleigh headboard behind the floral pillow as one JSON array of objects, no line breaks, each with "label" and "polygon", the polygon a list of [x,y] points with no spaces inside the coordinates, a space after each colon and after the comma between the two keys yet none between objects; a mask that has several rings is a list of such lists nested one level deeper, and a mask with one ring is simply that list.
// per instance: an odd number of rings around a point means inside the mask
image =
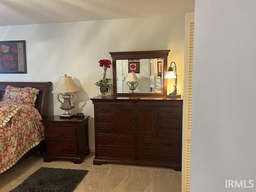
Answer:
[{"label": "dark wooden sleigh headboard behind the floral pillow", "polygon": [[32,87],[40,90],[36,98],[35,108],[39,111],[42,118],[48,117],[49,92],[52,82],[0,82],[0,101],[4,97],[6,86]]}]

